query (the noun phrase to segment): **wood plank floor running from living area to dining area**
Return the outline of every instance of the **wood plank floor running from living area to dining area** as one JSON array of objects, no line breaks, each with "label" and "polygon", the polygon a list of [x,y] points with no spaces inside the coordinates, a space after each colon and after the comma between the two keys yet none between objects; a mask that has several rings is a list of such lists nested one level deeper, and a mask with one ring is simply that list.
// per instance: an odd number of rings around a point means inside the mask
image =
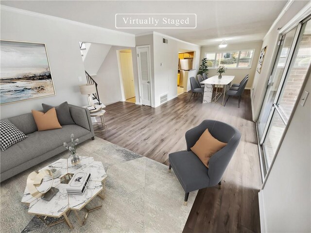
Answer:
[{"label": "wood plank floor running from living area to dining area", "polygon": [[199,190],[183,232],[260,232],[261,178],[249,91],[245,90],[240,108],[237,98],[230,98],[225,107],[189,98],[190,93],[183,93],[157,108],[111,104],[105,108],[107,132],[96,136],[168,165],[169,153],[186,150],[186,131],[202,120],[216,119],[236,127],[242,138],[225,171],[222,189]]}]

